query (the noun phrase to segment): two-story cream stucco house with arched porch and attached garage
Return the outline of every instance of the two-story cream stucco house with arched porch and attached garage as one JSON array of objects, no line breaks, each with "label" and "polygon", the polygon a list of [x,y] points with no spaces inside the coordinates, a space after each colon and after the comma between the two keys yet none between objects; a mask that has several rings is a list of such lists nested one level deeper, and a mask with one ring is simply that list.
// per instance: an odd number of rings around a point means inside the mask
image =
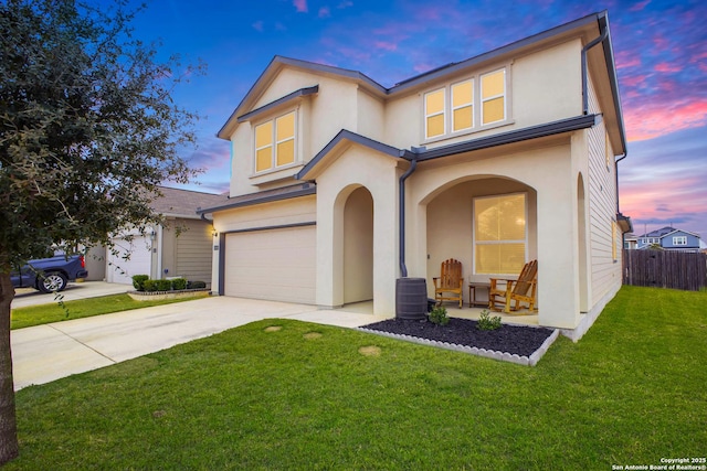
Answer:
[{"label": "two-story cream stucco house with arched porch and attached garage", "polygon": [[390,88],[276,56],[218,136],[231,197],[200,213],[221,295],[372,300],[392,317],[397,279],[431,296],[447,258],[465,282],[538,259],[538,322],[578,339],[621,287],[626,140],[605,12]]}]

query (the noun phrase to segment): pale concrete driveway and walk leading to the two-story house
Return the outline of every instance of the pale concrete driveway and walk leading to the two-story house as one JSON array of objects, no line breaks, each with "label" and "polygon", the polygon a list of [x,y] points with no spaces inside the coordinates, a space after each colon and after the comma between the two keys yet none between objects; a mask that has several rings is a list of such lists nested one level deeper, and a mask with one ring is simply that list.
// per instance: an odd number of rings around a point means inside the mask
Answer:
[{"label": "pale concrete driveway and walk leading to the two-story house", "polygon": [[346,328],[386,319],[361,311],[367,309],[356,304],[320,310],[287,302],[211,297],[18,329],[11,333],[14,388],[109,366],[262,319]]}]

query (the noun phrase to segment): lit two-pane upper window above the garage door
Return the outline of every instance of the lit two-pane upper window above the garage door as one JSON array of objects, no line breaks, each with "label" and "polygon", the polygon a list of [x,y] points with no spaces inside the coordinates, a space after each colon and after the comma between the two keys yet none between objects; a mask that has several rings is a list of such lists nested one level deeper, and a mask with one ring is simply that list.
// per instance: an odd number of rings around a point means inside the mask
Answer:
[{"label": "lit two-pane upper window above the garage door", "polygon": [[295,161],[295,111],[255,126],[255,172]]}]

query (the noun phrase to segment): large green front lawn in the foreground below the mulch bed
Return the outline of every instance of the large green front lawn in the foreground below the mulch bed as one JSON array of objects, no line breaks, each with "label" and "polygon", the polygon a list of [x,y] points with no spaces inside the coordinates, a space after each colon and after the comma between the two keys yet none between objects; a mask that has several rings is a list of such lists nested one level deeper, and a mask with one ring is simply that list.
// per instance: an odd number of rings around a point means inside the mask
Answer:
[{"label": "large green front lawn in the foreground below the mulch bed", "polygon": [[705,306],[705,292],[624,287],[536,367],[255,322],[20,390],[21,456],[7,469],[610,470],[704,457]]}]

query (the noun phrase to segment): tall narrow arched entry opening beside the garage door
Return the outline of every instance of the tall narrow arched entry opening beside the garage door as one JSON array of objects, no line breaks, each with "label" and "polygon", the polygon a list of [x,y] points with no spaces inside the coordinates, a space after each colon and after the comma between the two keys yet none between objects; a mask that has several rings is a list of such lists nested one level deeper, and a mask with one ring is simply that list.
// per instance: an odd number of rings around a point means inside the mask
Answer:
[{"label": "tall narrow arched entry opening beside the garage door", "polygon": [[373,197],[363,186],[344,206],[344,303],[373,299]]}]

